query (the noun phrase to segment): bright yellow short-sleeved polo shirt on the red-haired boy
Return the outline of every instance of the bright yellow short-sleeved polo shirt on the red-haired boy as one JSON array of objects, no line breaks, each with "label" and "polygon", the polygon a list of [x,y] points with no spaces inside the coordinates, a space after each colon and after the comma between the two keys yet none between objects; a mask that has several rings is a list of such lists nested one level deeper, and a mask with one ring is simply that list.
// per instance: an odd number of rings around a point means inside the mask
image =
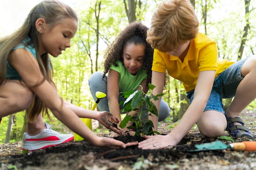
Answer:
[{"label": "bright yellow short-sleeved polo shirt on the red-haired boy", "polygon": [[179,57],[168,55],[167,52],[154,50],[152,70],[165,72],[173,78],[182,81],[186,92],[195,89],[199,72],[216,70],[215,78],[234,62],[227,59],[219,60],[216,42],[199,33],[190,43],[183,63]]}]

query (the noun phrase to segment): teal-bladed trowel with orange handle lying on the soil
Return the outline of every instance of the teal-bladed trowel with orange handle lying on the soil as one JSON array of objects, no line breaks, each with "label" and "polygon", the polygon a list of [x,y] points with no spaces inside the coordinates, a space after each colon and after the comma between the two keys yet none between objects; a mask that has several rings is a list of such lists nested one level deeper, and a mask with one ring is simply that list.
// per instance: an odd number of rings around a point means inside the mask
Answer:
[{"label": "teal-bladed trowel with orange handle lying on the soil", "polygon": [[231,148],[231,150],[244,150],[244,151],[256,151],[256,141],[243,141],[225,144],[221,141],[210,142],[206,144],[195,145],[194,150],[187,150],[189,152],[205,151],[205,150],[222,150]]}]

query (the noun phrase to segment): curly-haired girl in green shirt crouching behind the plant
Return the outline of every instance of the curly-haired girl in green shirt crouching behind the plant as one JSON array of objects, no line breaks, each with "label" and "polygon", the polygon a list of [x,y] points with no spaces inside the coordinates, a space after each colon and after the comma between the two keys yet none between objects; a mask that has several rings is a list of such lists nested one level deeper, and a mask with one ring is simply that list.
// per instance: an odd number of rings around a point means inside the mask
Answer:
[{"label": "curly-haired girl in green shirt crouching behind the plant", "polygon": [[[99,110],[110,111],[118,118],[119,124],[120,110],[123,108],[119,103],[124,100],[120,93],[142,88],[146,94],[149,89],[148,83],[151,83],[154,49],[146,42],[147,30],[143,24],[132,22],[121,31],[105,53],[104,72],[94,72],[89,79],[94,100],[97,100],[97,91],[107,94],[107,98],[101,99],[97,105]],[[168,104],[164,100],[160,103],[158,121],[166,119],[170,114]],[[112,137],[116,135],[111,134]]]}]

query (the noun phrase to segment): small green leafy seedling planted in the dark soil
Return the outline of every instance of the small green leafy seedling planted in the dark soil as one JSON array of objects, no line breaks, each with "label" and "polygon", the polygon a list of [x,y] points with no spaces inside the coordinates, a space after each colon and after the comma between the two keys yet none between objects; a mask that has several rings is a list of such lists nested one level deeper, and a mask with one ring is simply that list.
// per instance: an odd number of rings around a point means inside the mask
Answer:
[{"label": "small green leafy seedling planted in the dark soil", "polygon": [[121,109],[121,111],[132,114],[127,114],[119,126],[123,129],[128,123],[133,122],[132,126],[128,126],[127,128],[130,131],[135,131],[135,136],[141,135],[144,137],[144,135],[159,134],[157,131],[153,131],[153,122],[149,120],[148,117],[152,116],[152,114],[158,116],[157,108],[151,99],[158,100],[158,97],[163,96],[164,94],[154,96],[151,91],[155,86],[148,83],[148,87],[150,95],[145,94],[142,91],[142,88],[135,92],[124,92],[122,95],[126,100],[123,100],[120,103],[120,105],[124,105],[124,109]]}]

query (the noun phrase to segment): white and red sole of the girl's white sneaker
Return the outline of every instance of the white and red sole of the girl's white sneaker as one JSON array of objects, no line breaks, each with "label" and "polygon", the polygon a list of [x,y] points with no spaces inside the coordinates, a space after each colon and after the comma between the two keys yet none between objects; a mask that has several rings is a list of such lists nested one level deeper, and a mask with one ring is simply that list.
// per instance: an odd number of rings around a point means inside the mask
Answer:
[{"label": "white and red sole of the girl's white sneaker", "polygon": [[59,144],[63,144],[63,143],[70,142],[70,141],[74,140],[74,136],[67,138],[67,139],[63,139],[63,140],[64,140],[63,142],[61,142],[60,140],[55,141],[56,144],[50,144],[50,145],[48,145],[47,143],[54,143],[54,142],[53,141],[44,141],[44,142],[40,142],[37,144],[24,144],[23,143],[22,150],[30,151],[30,150],[44,149],[44,148],[48,148],[51,146],[57,146]]}]

